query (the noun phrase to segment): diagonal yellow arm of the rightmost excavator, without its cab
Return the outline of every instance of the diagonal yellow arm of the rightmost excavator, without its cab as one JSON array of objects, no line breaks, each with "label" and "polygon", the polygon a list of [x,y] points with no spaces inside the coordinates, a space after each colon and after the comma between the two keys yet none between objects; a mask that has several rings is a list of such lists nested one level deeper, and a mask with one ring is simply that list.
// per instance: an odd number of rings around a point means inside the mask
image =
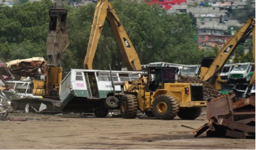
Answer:
[{"label": "diagonal yellow arm of the rightmost excavator, without its cab", "polygon": [[[255,18],[250,18],[246,21],[246,23],[244,23],[244,25],[235,33],[235,35],[233,35],[231,40],[229,40],[229,42],[222,47],[209,68],[201,67],[201,80],[208,81],[212,85],[215,85],[215,87],[220,87],[220,85],[218,86],[220,83],[218,83],[216,80],[218,78],[218,73],[220,73],[220,70],[222,69],[223,65],[225,65],[235,48],[252,32],[255,35]],[[253,48],[255,52],[254,40]]]}]

